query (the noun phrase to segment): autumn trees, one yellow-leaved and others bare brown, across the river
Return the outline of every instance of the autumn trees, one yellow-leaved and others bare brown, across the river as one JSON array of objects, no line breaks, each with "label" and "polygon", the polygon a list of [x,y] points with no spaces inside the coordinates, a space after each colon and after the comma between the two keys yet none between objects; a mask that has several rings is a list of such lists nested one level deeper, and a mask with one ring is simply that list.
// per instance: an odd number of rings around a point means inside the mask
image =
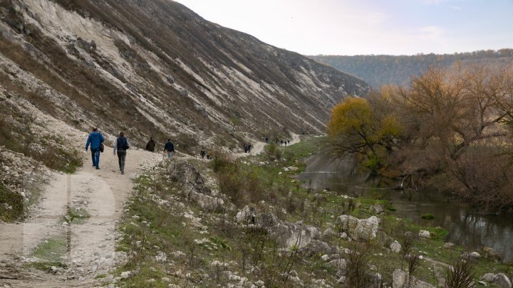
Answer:
[{"label": "autumn trees, one yellow-leaved and others bare brown, across the river", "polygon": [[333,108],[337,155],[356,154],[404,187],[437,188],[513,210],[513,70],[430,69],[408,87],[383,86]]}]

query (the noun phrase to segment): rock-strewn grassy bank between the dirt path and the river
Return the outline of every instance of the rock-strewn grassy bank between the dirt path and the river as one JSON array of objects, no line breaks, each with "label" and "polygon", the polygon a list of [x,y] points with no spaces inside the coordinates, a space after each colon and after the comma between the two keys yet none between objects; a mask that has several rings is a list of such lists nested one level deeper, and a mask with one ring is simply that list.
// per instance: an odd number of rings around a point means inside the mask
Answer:
[{"label": "rock-strewn grassy bank between the dirt path and the river", "polygon": [[492,251],[447,244],[447,230],[398,218],[388,201],[305,187],[296,176],[319,144],[309,137],[243,159],[165,161],[140,174],[116,238],[127,260],[98,282],[443,287],[447,267],[462,257],[473,263],[477,287],[512,276]]}]

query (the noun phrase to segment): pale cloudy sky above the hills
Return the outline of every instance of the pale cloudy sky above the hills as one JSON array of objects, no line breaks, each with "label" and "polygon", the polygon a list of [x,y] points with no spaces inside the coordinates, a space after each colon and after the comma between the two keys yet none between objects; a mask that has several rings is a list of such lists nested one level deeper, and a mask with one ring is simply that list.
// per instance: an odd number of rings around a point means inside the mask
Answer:
[{"label": "pale cloudy sky above the hills", "polygon": [[177,0],[199,16],[303,55],[513,48],[513,0]]}]

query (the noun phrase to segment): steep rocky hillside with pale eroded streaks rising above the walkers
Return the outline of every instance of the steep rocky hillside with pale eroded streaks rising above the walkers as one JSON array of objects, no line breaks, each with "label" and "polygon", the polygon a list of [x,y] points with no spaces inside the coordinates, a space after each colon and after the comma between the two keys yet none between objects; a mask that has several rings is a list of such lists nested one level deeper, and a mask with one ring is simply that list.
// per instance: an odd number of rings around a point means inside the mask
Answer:
[{"label": "steep rocky hillside with pale eroded streaks rising above the walkers", "polygon": [[323,132],[336,102],[368,89],[174,1],[0,0],[0,19],[0,121],[13,127],[3,139],[31,137],[26,101],[139,145],[233,148],[271,131]]}]

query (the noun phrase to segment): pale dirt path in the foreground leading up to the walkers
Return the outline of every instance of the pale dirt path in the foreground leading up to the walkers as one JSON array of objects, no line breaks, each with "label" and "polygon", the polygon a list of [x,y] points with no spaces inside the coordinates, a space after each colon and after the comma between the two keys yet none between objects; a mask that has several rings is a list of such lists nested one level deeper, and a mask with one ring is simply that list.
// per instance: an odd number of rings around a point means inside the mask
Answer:
[{"label": "pale dirt path in the foreground leading up to the walkers", "polygon": [[[162,156],[129,150],[125,175],[120,174],[118,157],[108,147],[100,157],[100,170],[91,166],[89,153],[83,158],[84,167],[76,174],[53,174],[24,223],[0,225],[0,285],[90,287],[95,277],[108,274],[123,260],[115,252],[115,224],[132,191],[130,178],[142,167],[154,166]],[[66,215],[76,218],[66,219]],[[31,268],[41,263],[53,266],[53,274]]]}]

